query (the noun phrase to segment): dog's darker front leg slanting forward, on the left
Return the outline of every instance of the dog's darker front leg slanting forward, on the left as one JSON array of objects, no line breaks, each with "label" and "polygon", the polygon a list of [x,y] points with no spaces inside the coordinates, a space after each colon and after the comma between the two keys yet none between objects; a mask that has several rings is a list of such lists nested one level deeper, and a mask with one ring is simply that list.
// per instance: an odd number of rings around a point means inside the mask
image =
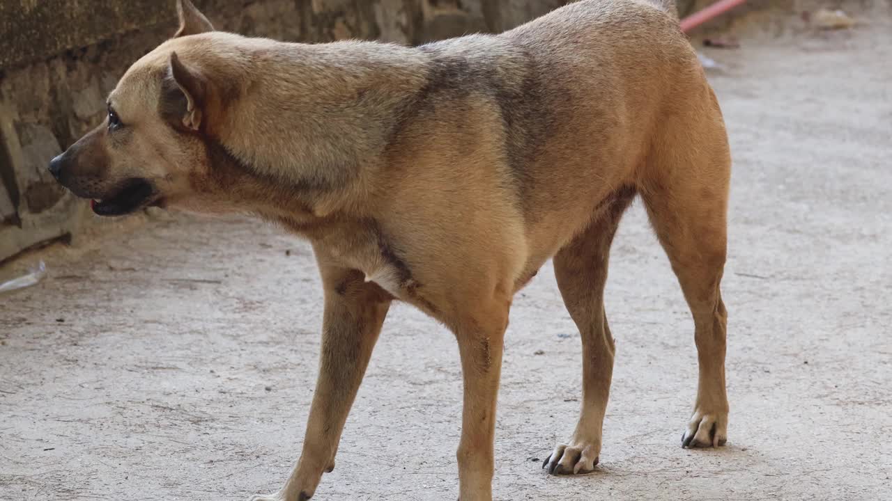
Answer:
[{"label": "dog's darker front leg slanting forward, on the left", "polygon": [[319,267],[326,296],[322,353],[301,458],[278,494],[252,501],[306,501],[322,473],[335,468],[343,424],[390,307],[391,296],[359,271],[327,265],[321,257]]}]

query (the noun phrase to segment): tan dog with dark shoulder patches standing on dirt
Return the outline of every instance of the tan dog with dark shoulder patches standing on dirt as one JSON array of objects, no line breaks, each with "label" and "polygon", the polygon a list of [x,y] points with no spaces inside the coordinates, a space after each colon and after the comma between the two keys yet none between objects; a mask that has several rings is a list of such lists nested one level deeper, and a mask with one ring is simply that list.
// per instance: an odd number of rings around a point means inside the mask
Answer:
[{"label": "tan dog with dark shoulder patches standing on dirt", "polygon": [[108,117],[56,157],[95,214],[244,212],[308,239],[325,287],[300,459],[255,501],[310,499],[394,300],[455,334],[464,379],[462,501],[492,498],[512,297],[553,259],[582,335],[582,413],[543,467],[591,472],[613,371],[610,244],[640,195],[695,324],[683,447],[727,439],[724,358],[731,153],[672,0],[582,0],[500,35],[407,47],[305,45],[215,31],[188,0],[133,64]]}]

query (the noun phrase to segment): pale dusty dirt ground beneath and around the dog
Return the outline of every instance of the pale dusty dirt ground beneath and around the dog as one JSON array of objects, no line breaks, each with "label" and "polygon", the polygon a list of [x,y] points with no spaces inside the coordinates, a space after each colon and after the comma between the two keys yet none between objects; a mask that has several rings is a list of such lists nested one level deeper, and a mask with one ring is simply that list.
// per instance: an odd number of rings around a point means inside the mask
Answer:
[{"label": "pale dusty dirt ground beneath and around the dog", "polygon": [[[496,497],[892,499],[892,33],[742,37],[708,54],[734,152],[728,446],[685,450],[693,325],[640,204],[616,239],[599,471],[549,477],[580,396],[550,266],[516,298]],[[0,297],[0,499],[244,499],[301,448],[321,291],[309,247],[251,221],[153,218],[37,259]],[[450,333],[392,309],[322,500],[455,499]]]}]

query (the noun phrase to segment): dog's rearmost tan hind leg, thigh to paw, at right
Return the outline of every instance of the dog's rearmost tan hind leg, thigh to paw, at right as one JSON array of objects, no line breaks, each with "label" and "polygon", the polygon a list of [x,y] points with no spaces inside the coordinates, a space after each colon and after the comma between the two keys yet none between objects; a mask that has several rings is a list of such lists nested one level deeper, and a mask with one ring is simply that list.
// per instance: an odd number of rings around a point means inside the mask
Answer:
[{"label": "dog's rearmost tan hind leg, thigh to paw, at right", "polygon": [[728,438],[727,311],[719,284],[727,252],[731,156],[714,94],[709,91],[687,113],[667,120],[661,140],[640,193],[694,318],[699,382],[681,443],[717,447]]}]

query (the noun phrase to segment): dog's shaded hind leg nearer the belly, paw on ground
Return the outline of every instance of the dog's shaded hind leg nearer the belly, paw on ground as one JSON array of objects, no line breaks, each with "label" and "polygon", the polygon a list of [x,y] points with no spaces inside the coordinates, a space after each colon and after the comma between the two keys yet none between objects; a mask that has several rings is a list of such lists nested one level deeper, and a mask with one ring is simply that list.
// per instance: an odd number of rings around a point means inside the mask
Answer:
[{"label": "dog's shaded hind leg nearer the belly, paw on ground", "polygon": [[632,187],[611,193],[599,218],[554,258],[558,288],[582,334],[582,414],[570,441],[542,464],[550,473],[591,472],[599,461],[615,349],[604,313],[607,261],[616,227],[634,196]]}]

